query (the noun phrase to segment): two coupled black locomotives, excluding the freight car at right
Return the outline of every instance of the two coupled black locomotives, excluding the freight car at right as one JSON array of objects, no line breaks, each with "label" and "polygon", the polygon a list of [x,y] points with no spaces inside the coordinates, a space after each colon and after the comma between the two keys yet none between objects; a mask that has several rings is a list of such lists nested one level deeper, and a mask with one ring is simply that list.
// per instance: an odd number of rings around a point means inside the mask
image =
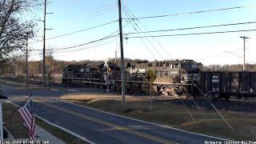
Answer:
[{"label": "two coupled black locomotives, excluding the freight car at right", "polygon": [[[182,94],[183,90],[193,92],[192,81],[198,84],[200,63],[193,60],[165,62],[126,63],[126,90],[150,91],[143,76],[147,70],[157,75],[153,91],[158,94]],[[110,85],[110,89],[121,89],[121,68],[118,64],[100,65],[90,68],[87,65],[68,65],[62,73],[62,83],[66,85],[98,86]]]}]

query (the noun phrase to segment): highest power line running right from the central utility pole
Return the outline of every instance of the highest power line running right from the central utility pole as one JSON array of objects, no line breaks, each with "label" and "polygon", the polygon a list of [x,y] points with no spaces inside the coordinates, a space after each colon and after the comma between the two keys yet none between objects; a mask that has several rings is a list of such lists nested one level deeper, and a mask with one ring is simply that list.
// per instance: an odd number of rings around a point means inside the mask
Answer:
[{"label": "highest power line running right from the central utility pole", "polygon": [[[208,13],[208,12],[215,12],[215,11],[222,11],[222,10],[235,10],[235,9],[242,9],[246,7],[256,6],[248,5],[248,6],[235,6],[235,7],[228,7],[228,8],[221,8],[221,9],[214,9],[214,10],[201,10],[201,11],[194,11],[189,13],[180,13],[180,14],[163,14],[163,15],[155,15],[155,16],[147,16],[147,17],[139,17],[137,19],[146,19],[146,18],[163,18],[163,17],[173,17],[179,15],[186,15],[186,14],[201,14],[201,13]],[[129,19],[129,18],[128,18]],[[131,18],[132,19],[132,18]]]}]

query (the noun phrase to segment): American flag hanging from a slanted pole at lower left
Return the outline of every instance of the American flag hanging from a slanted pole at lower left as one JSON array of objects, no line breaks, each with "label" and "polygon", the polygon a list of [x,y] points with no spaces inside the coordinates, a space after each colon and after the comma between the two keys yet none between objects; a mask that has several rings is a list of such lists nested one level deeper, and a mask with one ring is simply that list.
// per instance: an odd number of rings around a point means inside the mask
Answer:
[{"label": "American flag hanging from a slanted pole at lower left", "polygon": [[18,112],[22,115],[26,123],[26,127],[30,130],[30,141],[34,140],[36,137],[36,129],[34,124],[34,112],[33,112],[33,104],[32,100],[30,99],[29,102],[26,103]]}]

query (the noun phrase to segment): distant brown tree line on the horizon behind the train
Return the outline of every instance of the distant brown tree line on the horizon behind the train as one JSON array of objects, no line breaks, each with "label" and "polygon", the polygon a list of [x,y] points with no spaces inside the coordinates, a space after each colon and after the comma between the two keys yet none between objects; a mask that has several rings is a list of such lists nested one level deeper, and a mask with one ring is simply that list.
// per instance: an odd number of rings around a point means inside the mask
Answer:
[{"label": "distant brown tree line on the horizon behind the train", "polygon": [[[114,63],[115,59],[110,58],[110,63]],[[147,62],[147,60],[142,59],[130,59],[126,58],[125,62]],[[53,53],[46,54],[46,65],[49,66],[49,74],[62,74],[62,70],[64,66],[75,64],[75,65],[83,65],[86,64],[90,67],[97,67],[99,65],[104,64],[103,60],[91,61],[91,60],[83,60],[83,61],[63,61],[54,59]],[[202,65],[200,63],[200,65]],[[42,60],[40,61],[30,61],[28,62],[29,67],[29,76],[42,76]],[[242,64],[234,64],[234,65],[210,65],[210,66],[200,66],[201,70],[204,71],[241,71]],[[246,70],[256,71],[256,65],[246,64]],[[2,62],[0,66],[0,74],[9,74],[13,76],[22,76],[26,74],[26,55],[25,54],[16,54],[8,62]]]}]

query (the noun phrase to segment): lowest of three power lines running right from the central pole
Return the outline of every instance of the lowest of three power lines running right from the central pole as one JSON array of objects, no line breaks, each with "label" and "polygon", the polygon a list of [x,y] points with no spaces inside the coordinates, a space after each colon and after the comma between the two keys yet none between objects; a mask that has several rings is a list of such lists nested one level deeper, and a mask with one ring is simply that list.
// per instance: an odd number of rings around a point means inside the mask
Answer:
[{"label": "lowest of three power lines running right from the central pole", "polygon": [[204,33],[190,33],[190,34],[166,34],[166,35],[146,35],[144,37],[130,37],[130,38],[148,38],[148,37],[176,37],[176,36],[186,36],[186,35],[201,35],[201,34],[225,34],[225,33],[238,33],[238,32],[248,32],[248,31],[255,31],[256,29],[252,30],[229,30],[229,31],[214,31],[214,32],[204,32]]}]

